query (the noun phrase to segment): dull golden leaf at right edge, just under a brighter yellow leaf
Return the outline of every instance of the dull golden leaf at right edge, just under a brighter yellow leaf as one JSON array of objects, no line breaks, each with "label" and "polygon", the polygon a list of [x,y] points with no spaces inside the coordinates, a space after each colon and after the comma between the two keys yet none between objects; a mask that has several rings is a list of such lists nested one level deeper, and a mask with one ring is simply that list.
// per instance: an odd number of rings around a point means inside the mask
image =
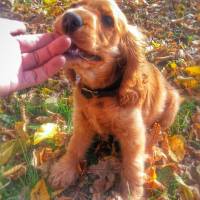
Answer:
[{"label": "dull golden leaf at right edge, just under a brighter yellow leaf", "polygon": [[199,84],[200,81],[192,78],[192,77],[182,77],[182,76],[178,76],[177,77],[177,82],[184,86],[185,88],[191,88],[191,89],[195,89],[195,88],[199,88]]}]

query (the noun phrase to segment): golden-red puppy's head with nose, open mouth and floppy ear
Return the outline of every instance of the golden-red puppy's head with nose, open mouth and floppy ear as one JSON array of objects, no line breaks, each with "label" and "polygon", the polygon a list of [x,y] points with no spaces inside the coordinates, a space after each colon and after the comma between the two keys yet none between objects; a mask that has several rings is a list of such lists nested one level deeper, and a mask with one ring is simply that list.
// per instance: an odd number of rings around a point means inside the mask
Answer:
[{"label": "golden-red puppy's head with nose, open mouth and floppy ear", "polygon": [[[78,1],[57,18],[55,30],[72,40],[66,53],[68,68],[91,89],[105,88],[119,79],[121,102],[139,95],[141,35],[130,26],[114,0]],[[134,92],[132,92],[134,90]],[[135,97],[134,97],[135,98]]]}]

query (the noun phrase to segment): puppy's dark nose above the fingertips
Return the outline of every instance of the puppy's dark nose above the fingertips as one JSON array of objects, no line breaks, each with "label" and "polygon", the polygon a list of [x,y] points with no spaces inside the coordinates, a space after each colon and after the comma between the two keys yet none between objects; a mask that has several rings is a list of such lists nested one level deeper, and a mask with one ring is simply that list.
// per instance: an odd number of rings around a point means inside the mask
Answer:
[{"label": "puppy's dark nose above the fingertips", "polygon": [[65,33],[73,33],[83,25],[82,18],[72,12],[68,12],[63,16],[63,31]]}]

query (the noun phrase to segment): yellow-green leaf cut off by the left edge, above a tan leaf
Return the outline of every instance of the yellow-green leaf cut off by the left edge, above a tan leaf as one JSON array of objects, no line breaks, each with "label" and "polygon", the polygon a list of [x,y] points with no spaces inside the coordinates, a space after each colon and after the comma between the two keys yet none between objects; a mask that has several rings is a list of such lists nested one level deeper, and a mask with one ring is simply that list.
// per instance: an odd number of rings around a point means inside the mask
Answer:
[{"label": "yellow-green leaf cut off by the left edge, above a tan leaf", "polygon": [[16,148],[16,140],[10,140],[0,144],[0,165],[6,164],[13,156]]}]

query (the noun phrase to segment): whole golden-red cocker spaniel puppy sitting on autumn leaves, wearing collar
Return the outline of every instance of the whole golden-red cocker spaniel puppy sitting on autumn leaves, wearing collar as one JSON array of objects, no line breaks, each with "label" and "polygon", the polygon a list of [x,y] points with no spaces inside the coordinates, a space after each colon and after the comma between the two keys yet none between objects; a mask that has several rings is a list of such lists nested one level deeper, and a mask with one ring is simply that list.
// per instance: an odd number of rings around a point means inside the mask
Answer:
[{"label": "whole golden-red cocker spaniel puppy sitting on autumn leaves, wearing collar", "polygon": [[112,133],[121,146],[123,199],[141,199],[145,132],[154,122],[166,129],[180,98],[143,53],[142,35],[114,0],[82,0],[55,22],[72,40],[67,77],[74,83],[74,133],[66,154],[52,167],[50,183],[67,187],[78,177],[95,134]]}]

